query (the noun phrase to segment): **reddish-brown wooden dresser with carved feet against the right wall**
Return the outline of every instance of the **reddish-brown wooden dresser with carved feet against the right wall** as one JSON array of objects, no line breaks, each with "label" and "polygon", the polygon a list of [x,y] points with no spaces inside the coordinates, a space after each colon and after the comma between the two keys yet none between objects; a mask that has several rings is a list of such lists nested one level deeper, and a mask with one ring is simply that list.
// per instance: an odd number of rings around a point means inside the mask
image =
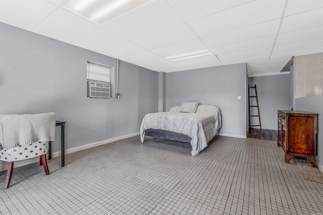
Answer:
[{"label": "reddish-brown wooden dresser with carved feet against the right wall", "polygon": [[316,167],[317,113],[278,110],[277,145],[285,152],[285,162],[305,157]]}]

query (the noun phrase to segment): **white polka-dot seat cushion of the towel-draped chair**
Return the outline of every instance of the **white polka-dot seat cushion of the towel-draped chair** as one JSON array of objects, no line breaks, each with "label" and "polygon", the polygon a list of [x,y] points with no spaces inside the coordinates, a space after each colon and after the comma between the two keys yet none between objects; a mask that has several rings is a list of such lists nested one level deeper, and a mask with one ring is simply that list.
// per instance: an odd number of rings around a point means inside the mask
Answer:
[{"label": "white polka-dot seat cushion of the towel-draped chair", "polygon": [[48,152],[48,141],[20,145],[10,150],[0,151],[0,161],[20,161],[44,155]]}]

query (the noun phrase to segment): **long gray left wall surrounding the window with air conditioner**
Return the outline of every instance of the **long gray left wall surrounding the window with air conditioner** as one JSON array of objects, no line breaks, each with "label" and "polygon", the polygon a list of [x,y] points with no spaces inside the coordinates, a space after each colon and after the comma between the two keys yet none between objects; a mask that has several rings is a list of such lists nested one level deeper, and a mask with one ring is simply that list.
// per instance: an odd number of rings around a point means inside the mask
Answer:
[{"label": "long gray left wall surrounding the window with air conditioner", "polygon": [[[139,131],[158,110],[158,73],[124,61],[119,101],[86,98],[87,60],[117,59],[0,23],[0,113],[55,112],[66,121],[66,149]],[[60,129],[53,152],[60,151]],[[57,144],[56,144],[57,143]]]}]

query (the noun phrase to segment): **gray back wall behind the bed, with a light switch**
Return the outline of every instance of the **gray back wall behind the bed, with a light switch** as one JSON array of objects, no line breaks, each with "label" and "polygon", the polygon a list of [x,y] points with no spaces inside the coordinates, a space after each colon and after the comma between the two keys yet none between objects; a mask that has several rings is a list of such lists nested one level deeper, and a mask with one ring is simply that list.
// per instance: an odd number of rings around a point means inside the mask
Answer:
[{"label": "gray back wall behind the bed, with a light switch", "polygon": [[166,110],[192,101],[216,105],[222,114],[220,135],[246,137],[246,83],[246,63],[167,73]]}]

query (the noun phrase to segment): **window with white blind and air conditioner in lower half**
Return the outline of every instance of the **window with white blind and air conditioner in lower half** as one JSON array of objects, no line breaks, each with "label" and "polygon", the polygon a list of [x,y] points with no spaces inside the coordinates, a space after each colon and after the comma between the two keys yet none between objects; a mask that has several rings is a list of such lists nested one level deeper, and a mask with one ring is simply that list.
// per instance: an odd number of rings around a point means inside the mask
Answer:
[{"label": "window with white blind and air conditioner in lower half", "polygon": [[112,98],[113,66],[87,62],[87,97]]}]

